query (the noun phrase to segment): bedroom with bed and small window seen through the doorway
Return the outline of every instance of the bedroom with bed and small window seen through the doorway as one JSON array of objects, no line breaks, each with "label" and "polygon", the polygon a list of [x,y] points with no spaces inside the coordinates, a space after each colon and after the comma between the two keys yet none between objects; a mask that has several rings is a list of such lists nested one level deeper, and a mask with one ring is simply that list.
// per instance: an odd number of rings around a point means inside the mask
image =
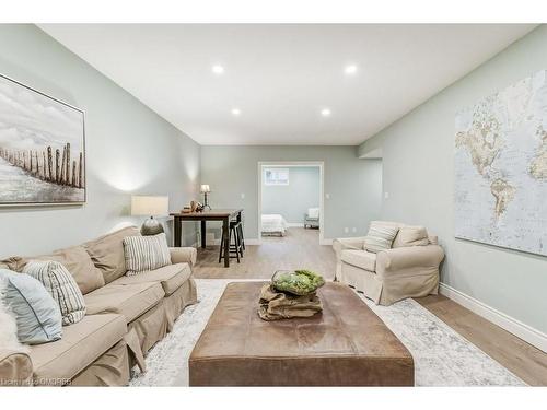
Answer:
[{"label": "bedroom with bed and small window seen through the doorway", "polygon": [[283,238],[298,227],[321,242],[323,163],[259,163],[259,237]]}]

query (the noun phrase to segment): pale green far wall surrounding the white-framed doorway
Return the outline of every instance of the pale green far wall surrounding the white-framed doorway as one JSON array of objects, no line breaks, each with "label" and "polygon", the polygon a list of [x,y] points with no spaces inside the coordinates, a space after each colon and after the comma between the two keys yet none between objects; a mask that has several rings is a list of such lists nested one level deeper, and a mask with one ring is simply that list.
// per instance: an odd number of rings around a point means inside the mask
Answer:
[{"label": "pale green far wall surrounding the white-framed doorway", "polygon": [[258,233],[260,161],[324,162],[325,238],[349,236],[345,227],[356,227],[352,235],[363,235],[380,214],[381,161],[358,159],[354,147],[203,145],[200,175],[211,187],[210,203],[243,208],[246,238],[256,239]]}]

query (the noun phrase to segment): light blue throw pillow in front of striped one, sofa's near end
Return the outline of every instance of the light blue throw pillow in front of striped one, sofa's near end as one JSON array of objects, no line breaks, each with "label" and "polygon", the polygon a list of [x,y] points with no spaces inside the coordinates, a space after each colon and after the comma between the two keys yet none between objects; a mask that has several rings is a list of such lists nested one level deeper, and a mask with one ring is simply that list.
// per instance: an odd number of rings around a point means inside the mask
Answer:
[{"label": "light blue throw pillow in front of striped one, sofa's near end", "polygon": [[18,323],[21,343],[40,344],[59,340],[62,317],[57,303],[44,285],[28,274],[0,269],[5,281],[4,303],[10,306]]}]

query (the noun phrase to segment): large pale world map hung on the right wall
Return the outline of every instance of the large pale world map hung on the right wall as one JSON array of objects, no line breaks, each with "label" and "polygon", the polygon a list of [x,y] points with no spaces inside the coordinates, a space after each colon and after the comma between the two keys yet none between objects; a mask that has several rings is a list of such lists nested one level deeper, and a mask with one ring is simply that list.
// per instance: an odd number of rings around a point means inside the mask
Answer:
[{"label": "large pale world map hung on the right wall", "polygon": [[547,255],[547,71],[456,115],[455,236]]}]

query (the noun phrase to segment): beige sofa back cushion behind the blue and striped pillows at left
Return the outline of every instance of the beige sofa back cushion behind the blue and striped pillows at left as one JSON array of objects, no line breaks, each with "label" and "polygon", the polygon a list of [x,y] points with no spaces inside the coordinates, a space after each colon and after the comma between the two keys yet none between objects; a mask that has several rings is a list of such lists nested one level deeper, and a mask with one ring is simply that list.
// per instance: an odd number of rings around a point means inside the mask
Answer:
[{"label": "beige sofa back cushion behind the blue and striped pillows at left", "polygon": [[8,265],[11,270],[22,272],[30,260],[53,260],[60,262],[72,274],[83,294],[90,293],[105,284],[103,273],[93,265],[90,255],[88,255],[83,246],[59,249],[50,255],[12,257],[2,262]]}]

